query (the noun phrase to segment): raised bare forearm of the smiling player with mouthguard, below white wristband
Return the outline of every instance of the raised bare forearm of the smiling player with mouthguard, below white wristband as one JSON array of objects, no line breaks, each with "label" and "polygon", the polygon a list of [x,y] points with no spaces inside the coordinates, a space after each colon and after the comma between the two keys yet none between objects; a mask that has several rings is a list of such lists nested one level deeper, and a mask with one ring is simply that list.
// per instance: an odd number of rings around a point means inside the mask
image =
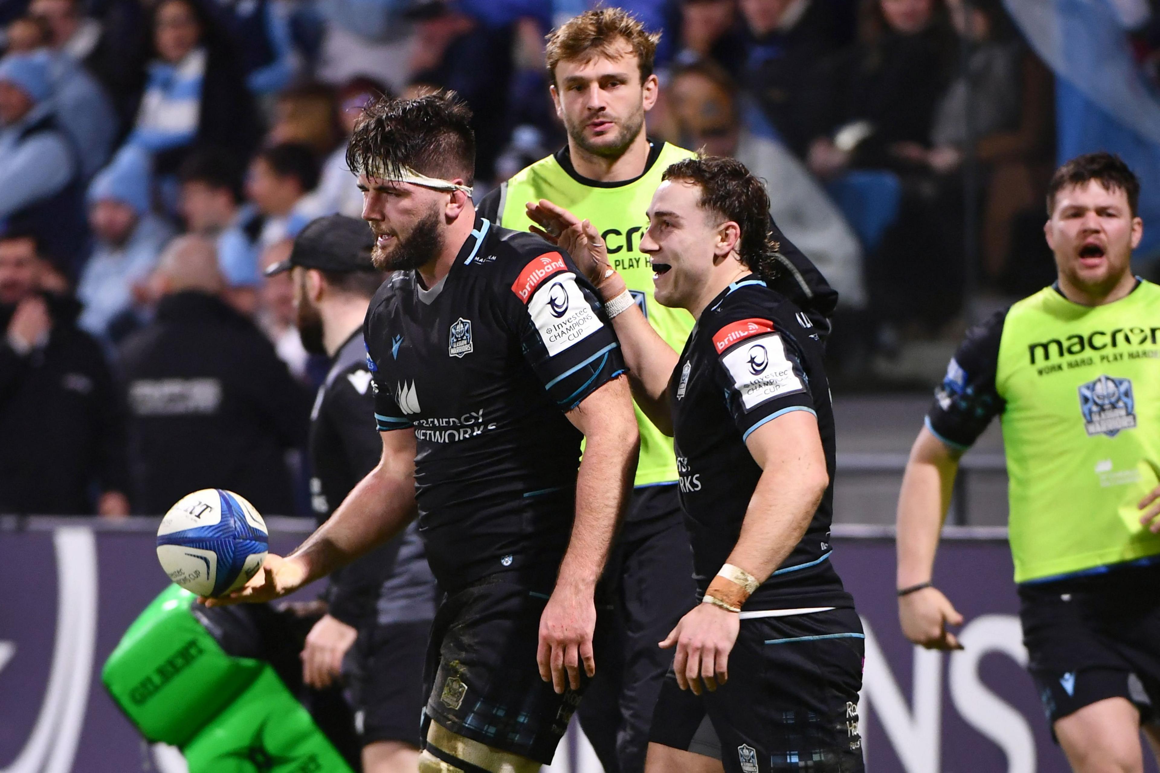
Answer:
[{"label": "raised bare forearm of the smiling player with mouthguard, below white wristband", "polygon": [[676,352],[657,335],[636,305],[612,318],[612,329],[629,366],[632,398],[653,424],[672,435],[668,381],[676,367]]}]

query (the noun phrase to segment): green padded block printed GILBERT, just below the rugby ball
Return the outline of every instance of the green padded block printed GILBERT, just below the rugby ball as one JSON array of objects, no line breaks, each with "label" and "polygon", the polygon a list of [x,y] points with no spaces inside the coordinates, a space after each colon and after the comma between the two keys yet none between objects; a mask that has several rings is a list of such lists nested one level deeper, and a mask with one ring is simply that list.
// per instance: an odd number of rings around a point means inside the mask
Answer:
[{"label": "green padded block printed GILBERT, just below the rugby ball", "polygon": [[147,741],[182,746],[258,678],[263,663],[225,654],[171,585],[145,607],[104,663],[101,680]]}]

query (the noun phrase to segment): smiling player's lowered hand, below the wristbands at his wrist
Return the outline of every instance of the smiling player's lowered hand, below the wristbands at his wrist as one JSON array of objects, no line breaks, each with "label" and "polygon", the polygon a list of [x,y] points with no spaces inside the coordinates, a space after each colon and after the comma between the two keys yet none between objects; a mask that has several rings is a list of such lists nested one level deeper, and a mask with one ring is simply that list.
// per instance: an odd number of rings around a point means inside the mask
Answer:
[{"label": "smiling player's lowered hand, below the wristbands at his wrist", "polygon": [[681,690],[699,695],[728,680],[728,654],[741,630],[741,615],[712,604],[698,604],[669,632],[661,649],[676,646],[673,672]]}]

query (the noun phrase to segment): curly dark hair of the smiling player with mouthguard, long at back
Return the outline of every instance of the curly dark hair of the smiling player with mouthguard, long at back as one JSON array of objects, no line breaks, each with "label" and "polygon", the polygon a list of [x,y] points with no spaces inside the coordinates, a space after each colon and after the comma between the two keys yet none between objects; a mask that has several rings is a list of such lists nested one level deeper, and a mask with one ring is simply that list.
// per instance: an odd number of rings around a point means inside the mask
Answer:
[{"label": "curly dark hair of the smiling player with mouthguard, long at back", "polygon": [[698,154],[677,161],[661,180],[682,180],[701,187],[701,209],[722,221],[732,220],[741,228],[737,251],[741,262],[763,279],[778,272],[777,250],[769,227],[769,194],[744,163],[719,155]]}]

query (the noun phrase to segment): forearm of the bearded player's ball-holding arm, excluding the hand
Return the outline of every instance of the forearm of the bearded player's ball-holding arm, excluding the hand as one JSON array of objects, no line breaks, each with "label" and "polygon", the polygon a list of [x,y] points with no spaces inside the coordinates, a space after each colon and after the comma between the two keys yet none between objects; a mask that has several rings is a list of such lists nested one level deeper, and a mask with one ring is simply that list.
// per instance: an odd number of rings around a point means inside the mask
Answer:
[{"label": "forearm of the bearded player's ball-holding arm, excluding the hand", "polygon": [[396,537],[415,517],[414,479],[383,474],[362,479],[334,515],[287,556],[302,562],[306,579],[324,577]]}]

